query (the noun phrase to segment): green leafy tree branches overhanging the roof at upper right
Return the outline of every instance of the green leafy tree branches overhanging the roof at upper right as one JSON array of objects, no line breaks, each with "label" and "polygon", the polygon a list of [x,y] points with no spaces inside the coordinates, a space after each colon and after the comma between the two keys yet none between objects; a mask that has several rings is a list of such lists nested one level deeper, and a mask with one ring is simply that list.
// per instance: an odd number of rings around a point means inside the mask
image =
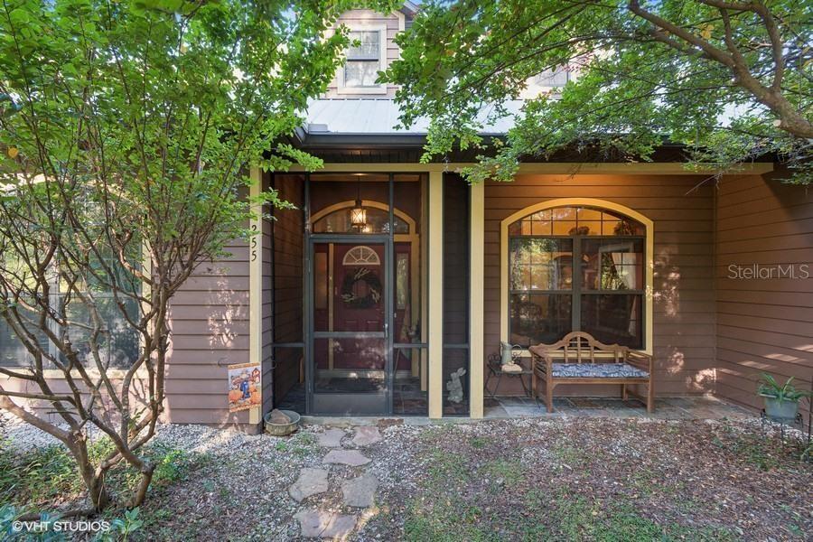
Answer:
[{"label": "green leafy tree branches overhanging the roof at upper right", "polygon": [[431,119],[428,160],[484,145],[482,126],[511,114],[528,79],[571,70],[525,103],[472,181],[565,148],[648,160],[668,140],[719,172],[777,154],[808,183],[811,17],[809,0],[430,0],[384,79],[402,85],[404,125]]}]

